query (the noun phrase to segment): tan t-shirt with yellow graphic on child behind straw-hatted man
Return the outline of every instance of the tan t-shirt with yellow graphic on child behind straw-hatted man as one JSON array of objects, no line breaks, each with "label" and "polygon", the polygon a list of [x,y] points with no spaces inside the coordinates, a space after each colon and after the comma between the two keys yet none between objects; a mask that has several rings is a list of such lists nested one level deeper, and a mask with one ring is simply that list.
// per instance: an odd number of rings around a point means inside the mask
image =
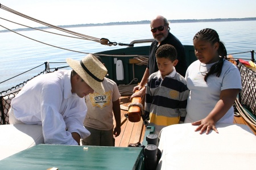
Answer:
[{"label": "tan t-shirt with yellow graphic on child behind straw-hatted man", "polygon": [[113,128],[113,101],[121,96],[117,84],[108,78],[102,82],[105,94],[97,92],[85,97],[88,108],[84,125],[98,130],[110,130]]}]

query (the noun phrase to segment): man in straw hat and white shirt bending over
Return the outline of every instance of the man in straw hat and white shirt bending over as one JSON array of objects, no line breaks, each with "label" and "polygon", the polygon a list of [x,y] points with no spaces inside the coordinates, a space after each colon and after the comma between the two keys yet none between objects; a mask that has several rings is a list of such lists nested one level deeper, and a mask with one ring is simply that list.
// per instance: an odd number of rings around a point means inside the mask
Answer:
[{"label": "man in straw hat and white shirt bending over", "polygon": [[80,145],[90,132],[84,128],[84,96],[103,94],[107,73],[92,54],[75,61],[67,58],[72,70],[59,70],[30,80],[11,101],[10,124],[37,124],[43,127],[44,143]]}]

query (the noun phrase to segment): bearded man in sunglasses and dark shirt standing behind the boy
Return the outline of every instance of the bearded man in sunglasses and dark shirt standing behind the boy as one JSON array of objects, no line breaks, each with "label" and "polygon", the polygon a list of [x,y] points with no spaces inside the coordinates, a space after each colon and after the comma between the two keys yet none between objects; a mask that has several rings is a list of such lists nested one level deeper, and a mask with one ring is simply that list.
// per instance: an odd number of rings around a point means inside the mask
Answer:
[{"label": "bearded man in sunglasses and dark shirt standing behind the boy", "polygon": [[151,26],[151,32],[154,37],[154,41],[152,42],[150,46],[149,51],[149,58],[148,58],[148,65],[146,68],[146,71],[143,75],[143,78],[141,80],[141,83],[139,83],[138,86],[135,86],[133,89],[133,92],[136,90],[139,90],[139,92],[134,93],[131,95],[131,99],[133,97],[139,97],[146,94],[146,87],[145,84],[147,84],[148,77],[152,74],[158,71],[158,65],[156,63],[155,58],[155,52],[159,48],[159,46],[162,46],[164,44],[170,44],[175,47],[177,51],[177,65],[175,66],[175,69],[177,73],[181,74],[182,76],[185,76],[185,72],[187,70],[187,62],[185,59],[185,49],[184,46],[181,44],[181,42],[170,32],[169,22],[166,18],[163,16],[156,16],[155,19],[151,20],[150,23]]}]

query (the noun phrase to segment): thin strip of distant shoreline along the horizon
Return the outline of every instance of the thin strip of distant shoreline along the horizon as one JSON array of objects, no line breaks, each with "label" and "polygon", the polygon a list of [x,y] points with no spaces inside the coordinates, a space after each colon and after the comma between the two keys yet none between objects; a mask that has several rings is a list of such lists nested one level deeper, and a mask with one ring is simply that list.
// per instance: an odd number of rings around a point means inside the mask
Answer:
[{"label": "thin strip of distant shoreline along the horizon", "polygon": [[[250,21],[256,20],[256,18],[216,18],[216,19],[178,19],[168,20],[170,23],[197,23],[197,22],[234,22],[234,21]],[[112,22],[112,23],[98,23],[98,24],[75,24],[75,25],[58,25],[61,28],[74,28],[74,27],[97,27],[104,25],[135,25],[135,24],[150,24],[150,20],[141,20],[137,22]],[[35,27],[37,29],[48,29],[49,27]],[[33,28],[17,28],[13,31],[32,31]],[[9,30],[1,30],[1,32],[10,32]]]}]

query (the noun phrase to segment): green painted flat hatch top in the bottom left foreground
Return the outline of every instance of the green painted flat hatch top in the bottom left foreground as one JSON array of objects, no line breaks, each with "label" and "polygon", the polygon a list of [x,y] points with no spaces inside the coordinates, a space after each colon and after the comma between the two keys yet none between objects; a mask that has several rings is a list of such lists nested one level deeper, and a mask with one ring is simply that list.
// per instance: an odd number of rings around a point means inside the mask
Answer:
[{"label": "green painted flat hatch top in the bottom left foreground", "polygon": [[[88,147],[88,149],[84,149]],[[1,169],[135,169],[139,147],[36,145],[0,160]]]}]

